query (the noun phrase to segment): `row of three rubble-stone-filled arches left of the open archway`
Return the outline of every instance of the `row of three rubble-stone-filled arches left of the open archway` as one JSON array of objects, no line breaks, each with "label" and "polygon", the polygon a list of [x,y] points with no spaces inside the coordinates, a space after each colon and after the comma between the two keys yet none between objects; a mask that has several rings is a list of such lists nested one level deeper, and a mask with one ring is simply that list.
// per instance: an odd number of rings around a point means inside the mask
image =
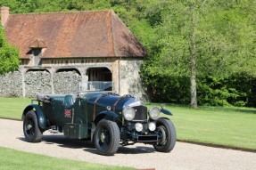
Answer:
[{"label": "row of three rubble-stone-filled arches left of the open archway", "polygon": [[[76,71],[51,73],[46,70],[31,70],[24,76],[25,97],[35,98],[37,93],[78,93],[81,76]],[[52,86],[54,85],[54,86]],[[0,76],[0,97],[22,97],[21,72],[15,71]]]}]

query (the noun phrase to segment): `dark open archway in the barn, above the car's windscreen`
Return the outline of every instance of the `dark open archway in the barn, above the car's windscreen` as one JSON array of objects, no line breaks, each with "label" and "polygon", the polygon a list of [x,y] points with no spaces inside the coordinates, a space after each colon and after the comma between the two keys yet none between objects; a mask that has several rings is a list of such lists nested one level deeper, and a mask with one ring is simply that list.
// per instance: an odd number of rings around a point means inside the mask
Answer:
[{"label": "dark open archway in the barn, above the car's windscreen", "polygon": [[89,82],[92,82],[92,81],[111,82],[112,81],[111,70],[107,68],[87,69],[87,77]]}]

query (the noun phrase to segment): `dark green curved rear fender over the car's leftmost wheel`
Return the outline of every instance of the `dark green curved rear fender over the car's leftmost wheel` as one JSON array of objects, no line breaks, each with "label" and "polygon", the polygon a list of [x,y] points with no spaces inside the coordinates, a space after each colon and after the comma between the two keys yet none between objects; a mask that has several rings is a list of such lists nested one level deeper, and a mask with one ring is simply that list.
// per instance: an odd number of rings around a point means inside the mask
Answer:
[{"label": "dark green curved rear fender over the car's leftmost wheel", "polygon": [[30,104],[29,106],[27,106],[23,110],[22,120],[25,117],[25,115],[27,114],[27,112],[30,111],[30,110],[33,110],[33,109],[36,109],[38,125],[42,129],[46,129],[46,127],[47,127],[47,118],[45,117],[45,114],[43,113],[41,107],[38,106],[37,104]]}]

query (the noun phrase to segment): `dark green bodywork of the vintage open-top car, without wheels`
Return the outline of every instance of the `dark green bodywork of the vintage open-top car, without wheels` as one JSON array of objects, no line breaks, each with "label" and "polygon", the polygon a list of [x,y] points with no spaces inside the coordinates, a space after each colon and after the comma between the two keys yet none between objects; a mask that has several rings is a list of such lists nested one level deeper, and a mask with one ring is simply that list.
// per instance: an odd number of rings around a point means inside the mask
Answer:
[{"label": "dark green bodywork of the vintage open-top car, without wheels", "polygon": [[[148,117],[147,110],[139,107],[144,107],[142,101],[125,95],[119,96],[112,93],[85,93],[80,95],[73,94],[45,94],[38,97],[38,105],[30,104],[24,109],[23,115],[29,110],[34,109],[38,117],[38,125],[47,130],[55,126],[56,130],[63,132],[65,136],[75,139],[90,139],[95,131],[97,123],[105,119],[115,121],[120,128],[120,141],[137,142],[138,136],[143,136],[144,139],[157,139],[158,135],[155,132],[150,132],[147,129],[147,124],[150,119],[142,119]],[[124,119],[122,110],[127,107],[136,108],[136,119],[144,125],[145,134],[135,131],[136,122],[127,121]],[[167,115],[172,115],[169,110],[161,109],[161,112]],[[141,118],[141,119],[140,119]],[[150,138],[147,138],[145,136]],[[147,142],[147,141],[146,141]],[[155,142],[155,141],[153,141]]]}]

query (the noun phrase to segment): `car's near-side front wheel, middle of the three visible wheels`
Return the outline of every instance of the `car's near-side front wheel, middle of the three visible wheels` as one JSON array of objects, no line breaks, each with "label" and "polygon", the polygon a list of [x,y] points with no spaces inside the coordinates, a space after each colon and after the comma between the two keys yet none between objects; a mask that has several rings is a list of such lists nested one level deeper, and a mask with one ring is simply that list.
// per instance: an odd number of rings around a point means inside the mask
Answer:
[{"label": "car's near-side front wheel, middle of the three visible wheels", "polygon": [[95,128],[95,148],[101,155],[110,156],[120,147],[119,126],[110,120],[101,120]]}]

